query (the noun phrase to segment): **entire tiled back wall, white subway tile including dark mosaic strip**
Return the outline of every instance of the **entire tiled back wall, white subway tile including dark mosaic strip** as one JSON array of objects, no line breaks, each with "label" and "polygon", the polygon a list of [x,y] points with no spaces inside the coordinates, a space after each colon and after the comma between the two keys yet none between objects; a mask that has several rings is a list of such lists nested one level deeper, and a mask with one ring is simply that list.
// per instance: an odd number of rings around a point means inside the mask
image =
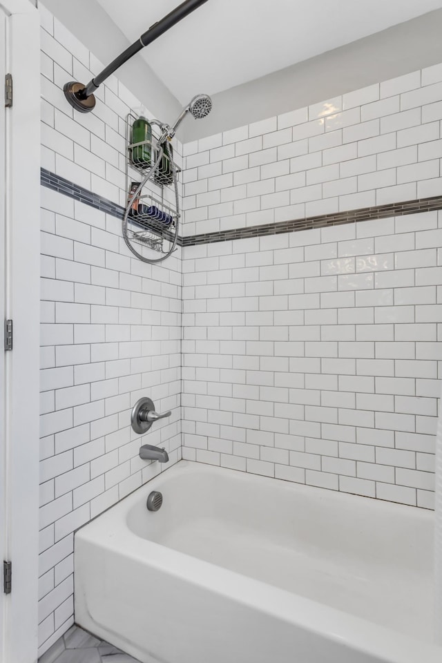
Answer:
[{"label": "entire tiled back wall, white subway tile including dark mosaic strip", "polygon": [[184,144],[185,459],[433,507],[441,121],[436,65]]}]

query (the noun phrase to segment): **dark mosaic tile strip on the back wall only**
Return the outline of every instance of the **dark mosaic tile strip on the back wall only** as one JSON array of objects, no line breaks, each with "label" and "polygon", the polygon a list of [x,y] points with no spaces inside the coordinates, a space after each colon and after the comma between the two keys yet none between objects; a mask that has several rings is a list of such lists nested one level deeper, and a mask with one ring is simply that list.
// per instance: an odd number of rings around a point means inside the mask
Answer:
[{"label": "dark mosaic tile strip on the back wall only", "polygon": [[405,202],[377,205],[374,207],[363,207],[345,212],[333,214],[322,214],[310,216],[304,219],[281,221],[278,223],[266,223],[249,228],[235,228],[232,230],[191,235],[181,239],[183,247],[194,247],[197,244],[211,244],[212,242],[227,242],[228,240],[242,240],[248,237],[262,237],[278,235],[280,233],[293,233],[300,230],[311,230],[313,228],[324,228],[338,226],[345,223],[367,221],[370,219],[383,219],[391,216],[403,216],[405,214],[416,214],[418,212],[429,212],[434,209],[442,209],[442,195],[432,198],[420,198],[419,200],[407,200]]}]

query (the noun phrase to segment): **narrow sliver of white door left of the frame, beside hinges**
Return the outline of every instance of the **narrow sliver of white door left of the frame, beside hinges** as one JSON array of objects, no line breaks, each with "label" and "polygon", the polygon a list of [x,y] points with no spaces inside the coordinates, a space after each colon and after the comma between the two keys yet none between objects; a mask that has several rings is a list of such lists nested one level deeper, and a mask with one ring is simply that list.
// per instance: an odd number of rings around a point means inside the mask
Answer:
[{"label": "narrow sliver of white door left of the frame, beside hinges", "polygon": [[[6,74],[6,15],[0,9],[0,89]],[[5,107],[0,99],[0,341],[3,336],[3,320],[6,318],[5,291],[6,291],[6,173],[5,173]],[[6,559],[6,445],[5,445],[5,353],[3,343],[0,347],[0,661],[6,660],[6,600],[2,586],[3,559]]]}]

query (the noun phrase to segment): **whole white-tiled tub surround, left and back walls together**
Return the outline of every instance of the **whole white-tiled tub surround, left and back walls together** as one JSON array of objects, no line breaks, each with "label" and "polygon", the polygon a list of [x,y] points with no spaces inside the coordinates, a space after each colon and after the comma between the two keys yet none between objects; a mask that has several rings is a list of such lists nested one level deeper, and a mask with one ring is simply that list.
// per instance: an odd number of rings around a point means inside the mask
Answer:
[{"label": "whole white-tiled tub surround, left and back walls together", "polygon": [[[146,266],[120,236],[140,103],[111,77],[75,114],[62,86],[102,64],[39,9],[42,654],[73,624],[73,532],[164,469],[144,441],[432,508],[442,66],[177,141],[182,246]],[[140,396],[173,411],[143,440]]]}]

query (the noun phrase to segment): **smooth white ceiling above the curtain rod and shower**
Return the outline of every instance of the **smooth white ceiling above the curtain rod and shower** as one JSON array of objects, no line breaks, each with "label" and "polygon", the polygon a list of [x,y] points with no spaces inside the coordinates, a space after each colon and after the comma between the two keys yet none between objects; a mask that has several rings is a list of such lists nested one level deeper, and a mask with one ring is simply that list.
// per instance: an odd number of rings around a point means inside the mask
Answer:
[{"label": "smooth white ceiling above the curtain rod and shower", "polygon": [[[98,2],[131,41],[180,3]],[[441,7],[442,0],[209,0],[137,57],[185,104]]]}]

